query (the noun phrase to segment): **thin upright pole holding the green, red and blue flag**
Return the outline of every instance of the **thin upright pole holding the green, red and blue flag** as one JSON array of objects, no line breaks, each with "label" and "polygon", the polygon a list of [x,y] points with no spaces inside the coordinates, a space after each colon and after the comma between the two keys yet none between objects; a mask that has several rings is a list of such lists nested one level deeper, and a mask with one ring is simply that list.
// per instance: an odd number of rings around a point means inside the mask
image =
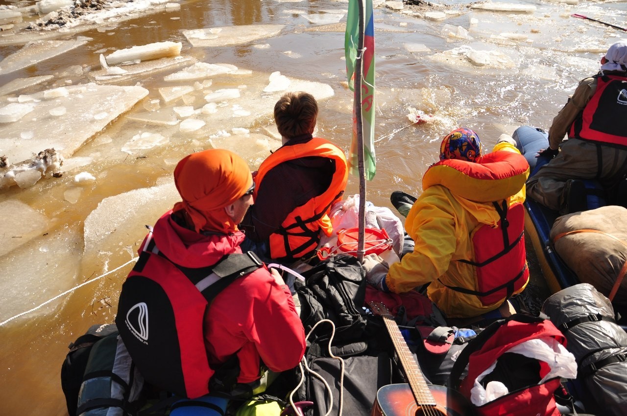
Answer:
[{"label": "thin upright pole holding the green, red and blue flag", "polygon": [[364,71],[364,31],[366,16],[364,14],[364,0],[357,0],[359,5],[359,41],[357,41],[357,58],[355,60],[355,95],[354,108],[357,130],[357,162],[359,170],[359,234],[357,234],[357,260],[364,260],[366,250],[366,168],[364,167],[364,125],[361,114],[362,73]]}]

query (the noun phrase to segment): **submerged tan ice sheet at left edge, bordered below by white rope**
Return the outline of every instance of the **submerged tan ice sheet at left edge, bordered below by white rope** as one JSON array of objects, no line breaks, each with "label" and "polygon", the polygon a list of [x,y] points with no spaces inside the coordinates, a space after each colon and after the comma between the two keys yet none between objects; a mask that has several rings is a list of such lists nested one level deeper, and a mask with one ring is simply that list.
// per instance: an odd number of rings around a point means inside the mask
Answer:
[{"label": "submerged tan ice sheet at left edge, bordered below by white rope", "polygon": [[[16,212],[19,214],[16,215]],[[22,213],[12,211],[11,218],[15,219]],[[28,245],[1,257],[3,278],[0,279],[0,291],[3,302],[0,306],[0,321],[38,306],[74,286],[80,270],[81,251],[80,227],[69,227],[32,239]],[[50,276],[55,278],[50,279]],[[45,315],[60,304],[56,302],[38,309],[29,318]]]}]

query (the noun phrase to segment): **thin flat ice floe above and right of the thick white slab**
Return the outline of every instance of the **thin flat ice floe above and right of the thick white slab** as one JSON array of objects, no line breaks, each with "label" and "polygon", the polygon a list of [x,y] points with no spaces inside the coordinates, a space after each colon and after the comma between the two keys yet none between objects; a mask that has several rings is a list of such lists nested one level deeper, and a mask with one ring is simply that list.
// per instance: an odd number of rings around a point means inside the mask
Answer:
[{"label": "thin flat ice floe above and right of the thick white slab", "polygon": [[183,30],[182,33],[192,46],[233,46],[250,43],[258,39],[271,38],[285,28],[284,24],[248,24]]}]

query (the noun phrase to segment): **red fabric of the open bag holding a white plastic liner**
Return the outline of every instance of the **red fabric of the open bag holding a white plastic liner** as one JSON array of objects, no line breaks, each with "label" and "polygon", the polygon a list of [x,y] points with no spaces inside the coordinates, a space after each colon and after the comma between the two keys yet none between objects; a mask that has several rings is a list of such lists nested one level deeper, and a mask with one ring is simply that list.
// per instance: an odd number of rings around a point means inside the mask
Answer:
[{"label": "red fabric of the open bag holding a white plastic liner", "polygon": [[[510,348],[524,341],[539,338],[555,338],[566,346],[566,337],[549,320],[532,316],[512,315],[500,320],[483,330],[471,340],[455,361],[450,376],[450,387],[459,385],[463,369],[468,365],[468,375],[461,382],[460,392],[470,399],[477,377],[491,367],[495,361]],[[540,361],[537,379],[540,380],[549,371],[547,365]],[[515,378],[515,374],[510,375]],[[478,416],[559,416],[554,392],[560,387],[559,377],[551,378],[542,384],[515,390],[492,402],[474,408]]]}]

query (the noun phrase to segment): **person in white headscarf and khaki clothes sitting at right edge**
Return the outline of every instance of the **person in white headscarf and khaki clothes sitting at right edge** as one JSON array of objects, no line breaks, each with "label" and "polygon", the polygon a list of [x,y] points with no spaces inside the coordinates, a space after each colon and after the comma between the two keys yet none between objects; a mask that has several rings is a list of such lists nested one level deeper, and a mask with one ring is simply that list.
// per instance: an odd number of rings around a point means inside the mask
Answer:
[{"label": "person in white headscarf and khaki clothes sitting at right edge", "polygon": [[582,180],[596,179],[611,204],[625,205],[619,198],[627,197],[627,41],[612,44],[599,73],[579,82],[553,119],[549,148],[538,155],[552,160],[527,181],[531,199],[561,214],[584,211]]}]

